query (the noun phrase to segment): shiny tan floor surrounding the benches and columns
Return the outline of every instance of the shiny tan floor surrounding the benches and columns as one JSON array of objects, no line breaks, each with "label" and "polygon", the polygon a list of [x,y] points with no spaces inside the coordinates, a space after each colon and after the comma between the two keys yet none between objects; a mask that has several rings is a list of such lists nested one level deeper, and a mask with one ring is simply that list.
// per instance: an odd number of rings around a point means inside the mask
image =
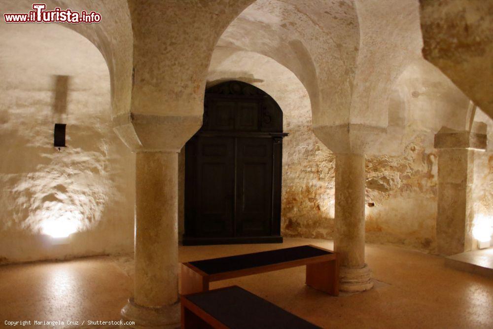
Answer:
[{"label": "shiny tan floor surrounding the benches and columns", "polygon": [[[325,240],[285,239],[282,245],[180,247],[180,261],[227,256]],[[237,284],[323,328],[493,328],[493,280],[445,267],[444,258],[367,245],[375,289],[339,297],[304,285],[304,268],[212,283]],[[0,266],[4,321],[118,320],[132,291],[130,256]],[[77,327],[77,326],[74,326]],[[80,327],[80,326],[79,326]],[[48,328],[33,326],[31,328]],[[97,328],[97,327],[87,327]]]}]

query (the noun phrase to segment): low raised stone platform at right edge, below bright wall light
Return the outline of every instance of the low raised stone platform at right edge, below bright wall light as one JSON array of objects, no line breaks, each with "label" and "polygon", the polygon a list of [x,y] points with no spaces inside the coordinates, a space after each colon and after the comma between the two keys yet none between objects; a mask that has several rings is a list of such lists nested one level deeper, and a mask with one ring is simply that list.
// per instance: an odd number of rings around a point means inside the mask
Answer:
[{"label": "low raised stone platform at right edge, below bright wall light", "polygon": [[445,265],[493,279],[493,247],[448,256],[445,259]]}]

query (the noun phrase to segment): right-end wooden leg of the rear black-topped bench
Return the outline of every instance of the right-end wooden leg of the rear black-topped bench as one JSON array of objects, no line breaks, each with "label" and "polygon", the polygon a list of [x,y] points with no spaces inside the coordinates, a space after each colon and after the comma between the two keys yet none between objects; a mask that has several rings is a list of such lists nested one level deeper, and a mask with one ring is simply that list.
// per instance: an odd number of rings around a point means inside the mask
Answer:
[{"label": "right-end wooden leg of the rear black-topped bench", "polygon": [[339,295],[339,259],[307,264],[306,284],[314,289]]}]

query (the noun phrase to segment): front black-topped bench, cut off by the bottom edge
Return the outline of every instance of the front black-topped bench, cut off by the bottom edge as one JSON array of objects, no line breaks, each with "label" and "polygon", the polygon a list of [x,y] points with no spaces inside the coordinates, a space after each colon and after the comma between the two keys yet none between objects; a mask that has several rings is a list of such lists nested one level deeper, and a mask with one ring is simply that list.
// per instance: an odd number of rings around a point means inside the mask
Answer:
[{"label": "front black-topped bench, cut off by the bottom edge", "polygon": [[319,329],[238,287],[181,295],[182,329]]}]

